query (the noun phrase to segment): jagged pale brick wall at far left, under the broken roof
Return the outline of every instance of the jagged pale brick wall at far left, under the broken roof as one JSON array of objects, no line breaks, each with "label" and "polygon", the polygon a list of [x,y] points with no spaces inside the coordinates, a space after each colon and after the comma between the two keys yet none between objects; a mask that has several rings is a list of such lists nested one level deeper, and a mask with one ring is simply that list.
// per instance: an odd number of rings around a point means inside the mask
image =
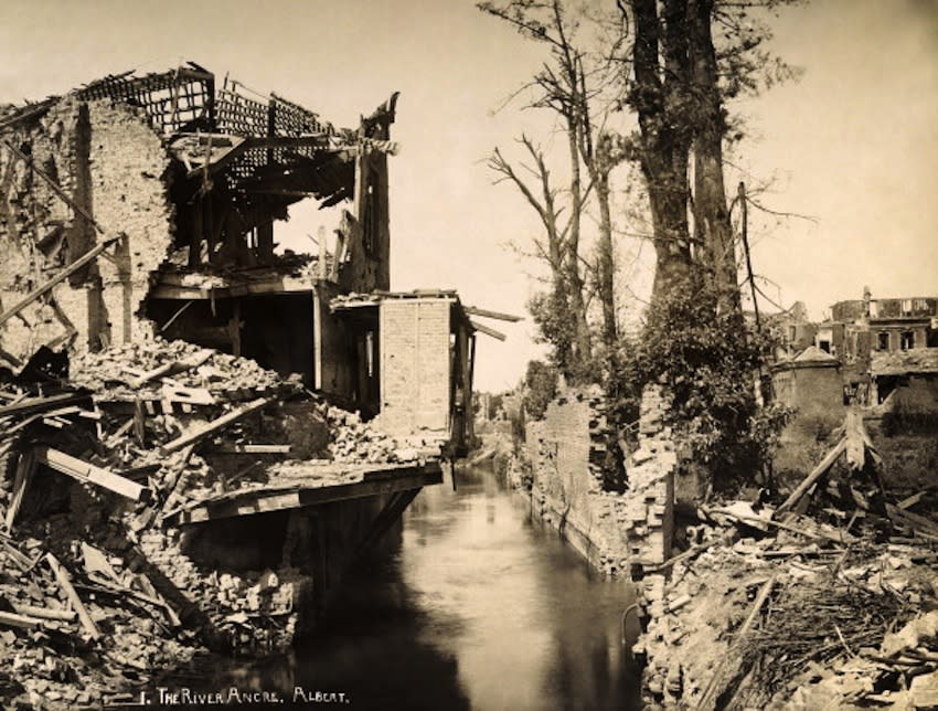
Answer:
[{"label": "jagged pale brick wall at far left, under the broken roof", "polygon": [[[163,182],[169,156],[137,109],[65,97],[4,136],[104,226],[97,234],[25,160],[0,149],[0,300],[9,308],[92,248],[127,240],[0,327],[2,348],[23,360],[39,346],[77,350],[149,333],[138,317],[150,274],[172,238]],[[0,309],[2,310],[2,309]]]}]

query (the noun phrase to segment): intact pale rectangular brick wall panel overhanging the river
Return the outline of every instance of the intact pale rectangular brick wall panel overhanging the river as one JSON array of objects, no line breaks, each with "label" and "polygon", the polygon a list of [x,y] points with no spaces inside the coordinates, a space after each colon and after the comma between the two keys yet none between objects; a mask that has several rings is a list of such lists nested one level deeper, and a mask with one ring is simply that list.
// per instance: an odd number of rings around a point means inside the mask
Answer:
[{"label": "intact pale rectangular brick wall panel overhanging the river", "polygon": [[382,300],[382,431],[448,431],[450,306],[447,299]]}]

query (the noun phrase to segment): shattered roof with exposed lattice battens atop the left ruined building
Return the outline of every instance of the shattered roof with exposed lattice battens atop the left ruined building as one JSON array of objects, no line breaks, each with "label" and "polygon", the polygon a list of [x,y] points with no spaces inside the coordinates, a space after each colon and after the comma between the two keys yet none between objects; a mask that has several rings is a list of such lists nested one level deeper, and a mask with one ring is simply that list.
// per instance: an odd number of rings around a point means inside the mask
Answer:
[{"label": "shattered roof with exposed lattice battens atop the left ruined building", "polygon": [[[358,128],[337,128],[283,96],[260,95],[189,62],[160,73],[108,75],[70,92],[79,100],[111,99],[138,107],[194,185],[221,174],[243,204],[289,204],[312,195],[322,206],[354,192],[358,151],[395,153],[388,139],[397,94],[363,117]],[[0,131],[39,120],[63,96],[13,107]]]}]

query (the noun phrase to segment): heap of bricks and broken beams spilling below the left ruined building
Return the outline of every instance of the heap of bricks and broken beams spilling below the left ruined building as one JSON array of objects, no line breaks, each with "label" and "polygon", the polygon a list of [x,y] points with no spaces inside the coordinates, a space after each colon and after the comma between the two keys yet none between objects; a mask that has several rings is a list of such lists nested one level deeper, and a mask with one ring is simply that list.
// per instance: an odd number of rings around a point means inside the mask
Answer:
[{"label": "heap of bricks and broken beams spilling below the left ruined building", "polygon": [[[4,708],[98,708],[206,646],[283,649],[310,577],[200,565],[164,519],[241,488],[426,452],[254,361],[183,342],[84,354],[67,381],[65,364],[43,353],[0,384]],[[50,456],[72,476],[29,466]]]}]

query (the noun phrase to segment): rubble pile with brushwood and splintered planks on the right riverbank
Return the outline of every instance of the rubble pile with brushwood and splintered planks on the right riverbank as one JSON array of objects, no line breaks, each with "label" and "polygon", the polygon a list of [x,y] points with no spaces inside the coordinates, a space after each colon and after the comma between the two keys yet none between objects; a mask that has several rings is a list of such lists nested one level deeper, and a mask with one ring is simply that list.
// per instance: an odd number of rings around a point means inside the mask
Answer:
[{"label": "rubble pile with brushwood and splintered planks on the right riverbank", "polygon": [[646,567],[648,708],[935,707],[938,522],[883,487],[864,435],[848,417],[780,503],[699,506],[686,550]]}]

